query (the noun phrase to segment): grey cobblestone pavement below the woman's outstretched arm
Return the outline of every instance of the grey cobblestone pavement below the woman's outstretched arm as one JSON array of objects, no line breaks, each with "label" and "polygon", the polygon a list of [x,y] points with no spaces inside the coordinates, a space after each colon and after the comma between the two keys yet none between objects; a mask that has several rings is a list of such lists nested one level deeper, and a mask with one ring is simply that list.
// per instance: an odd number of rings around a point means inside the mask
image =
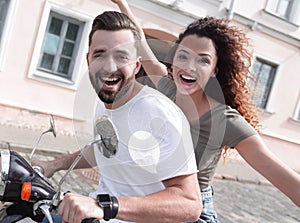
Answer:
[{"label": "grey cobblestone pavement below the woman's outstretched arm", "polygon": [[214,191],[220,223],[300,222],[300,208],[274,186],[215,180]]}]

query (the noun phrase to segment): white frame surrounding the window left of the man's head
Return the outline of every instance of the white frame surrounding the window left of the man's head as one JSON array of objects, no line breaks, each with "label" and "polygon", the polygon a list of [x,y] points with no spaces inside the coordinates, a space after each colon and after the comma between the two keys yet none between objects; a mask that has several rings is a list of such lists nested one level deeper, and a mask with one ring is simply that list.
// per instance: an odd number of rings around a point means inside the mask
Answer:
[{"label": "white frame surrounding the window left of the man's head", "polygon": [[88,50],[88,35],[85,34],[89,33],[89,30],[92,26],[92,17],[81,12],[66,8],[62,5],[58,5],[47,1],[44,7],[40,27],[37,34],[37,40],[34,46],[31,64],[27,76],[29,79],[39,80],[53,85],[62,86],[64,88],[76,89],[80,81],[82,68],[86,62],[85,53],[82,53],[82,55],[78,53],[78,55],[75,58],[75,61],[72,61],[72,63],[74,63],[74,67],[73,72],[71,74],[72,78],[70,80],[68,80],[65,77],[55,75],[54,73],[51,73],[49,71],[41,70],[39,68],[40,57],[43,50],[43,41],[45,33],[47,31],[47,24],[48,20],[50,19],[51,12],[60,14],[65,17],[70,17],[72,19],[76,19],[84,23],[82,27],[83,35],[81,37],[81,40],[77,40],[79,41],[77,52],[87,52]]}]

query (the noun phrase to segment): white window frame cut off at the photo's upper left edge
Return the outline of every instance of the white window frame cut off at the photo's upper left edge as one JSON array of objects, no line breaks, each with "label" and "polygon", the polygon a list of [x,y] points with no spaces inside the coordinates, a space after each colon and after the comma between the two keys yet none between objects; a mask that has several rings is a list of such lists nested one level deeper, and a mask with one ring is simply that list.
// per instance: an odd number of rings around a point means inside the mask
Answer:
[{"label": "white window frame cut off at the photo's upper left edge", "polygon": [[15,17],[17,0],[10,0],[8,4],[9,5],[7,8],[7,14],[2,29],[1,41],[0,41],[0,71],[4,69],[4,61],[5,61],[5,56],[8,48],[8,42],[10,39],[9,37],[13,27],[13,25],[9,25],[9,24],[14,24],[13,19]]}]

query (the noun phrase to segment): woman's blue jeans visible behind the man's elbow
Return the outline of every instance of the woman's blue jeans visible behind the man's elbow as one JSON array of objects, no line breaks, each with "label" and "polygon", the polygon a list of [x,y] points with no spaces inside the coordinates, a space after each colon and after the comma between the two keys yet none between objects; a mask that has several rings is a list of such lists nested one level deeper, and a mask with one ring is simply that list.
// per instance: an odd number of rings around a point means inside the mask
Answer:
[{"label": "woman's blue jeans visible behind the man's elbow", "polygon": [[217,213],[214,209],[213,194],[212,186],[201,190],[203,209],[200,218],[194,223],[219,223]]}]

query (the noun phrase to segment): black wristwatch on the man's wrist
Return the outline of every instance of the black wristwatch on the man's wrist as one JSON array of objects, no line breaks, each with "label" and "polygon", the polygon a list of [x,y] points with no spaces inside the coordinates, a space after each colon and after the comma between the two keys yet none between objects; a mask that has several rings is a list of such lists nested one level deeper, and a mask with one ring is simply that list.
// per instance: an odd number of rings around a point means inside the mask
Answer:
[{"label": "black wristwatch on the man's wrist", "polygon": [[119,210],[119,203],[116,197],[109,194],[98,194],[97,203],[103,208],[103,219],[109,221],[117,216]]}]

